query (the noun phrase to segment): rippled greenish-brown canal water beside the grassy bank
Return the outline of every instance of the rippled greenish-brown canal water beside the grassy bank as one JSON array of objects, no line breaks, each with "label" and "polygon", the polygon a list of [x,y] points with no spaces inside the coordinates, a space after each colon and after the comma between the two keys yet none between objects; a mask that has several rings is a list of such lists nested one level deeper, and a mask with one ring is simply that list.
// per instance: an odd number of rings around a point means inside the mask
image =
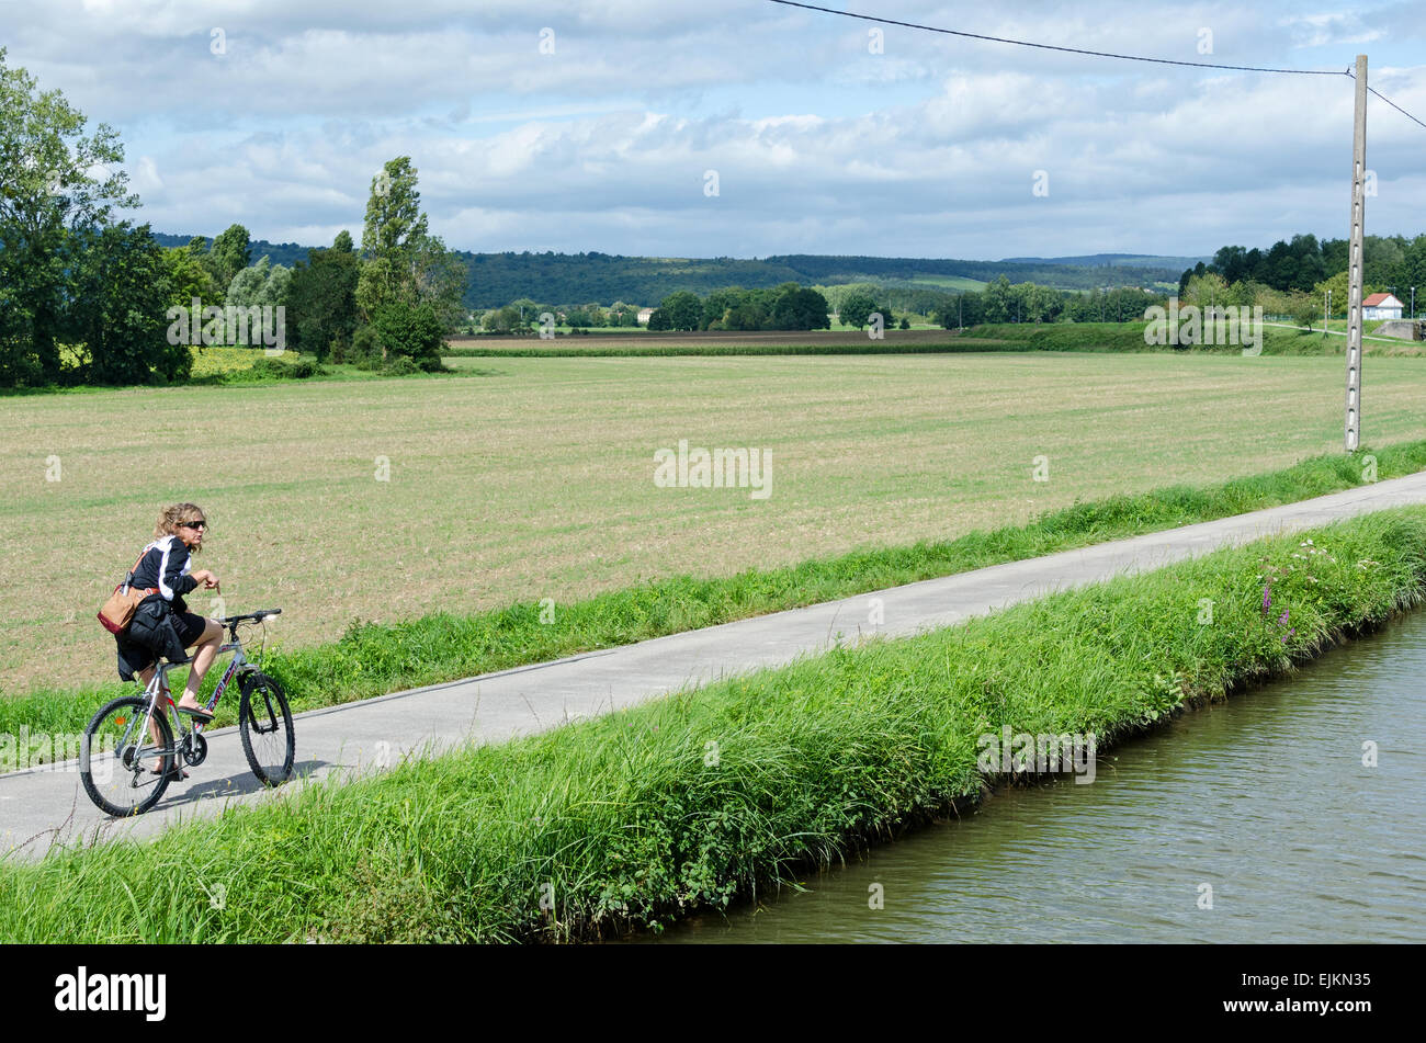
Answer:
[{"label": "rippled greenish-brown canal water beside the grassy bank", "polygon": [[1423,942],[1426,611],[799,882],[629,940]]}]

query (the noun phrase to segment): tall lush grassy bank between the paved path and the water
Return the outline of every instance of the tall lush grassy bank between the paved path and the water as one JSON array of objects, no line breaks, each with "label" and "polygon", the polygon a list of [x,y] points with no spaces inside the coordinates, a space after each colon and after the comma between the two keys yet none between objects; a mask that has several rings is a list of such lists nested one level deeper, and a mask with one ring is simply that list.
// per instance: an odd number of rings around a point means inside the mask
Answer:
[{"label": "tall lush grassy bank between the paved path and the water", "polygon": [[[977,767],[984,734],[1092,732],[1102,749],[1423,590],[1426,507],[1263,540],[325,782],[153,844],[4,865],[0,939],[529,940],[656,926],[975,798],[994,779]],[[220,886],[225,901],[210,901]]]}]

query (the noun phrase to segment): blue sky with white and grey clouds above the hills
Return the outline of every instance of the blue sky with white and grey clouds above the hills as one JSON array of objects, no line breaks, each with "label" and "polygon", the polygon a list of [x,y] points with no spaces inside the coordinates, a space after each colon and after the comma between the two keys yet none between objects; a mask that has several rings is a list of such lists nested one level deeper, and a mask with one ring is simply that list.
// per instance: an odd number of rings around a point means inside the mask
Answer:
[{"label": "blue sky with white and grey clouds above the hills", "polygon": [[[154,231],[361,239],[409,155],[469,251],[1000,259],[1346,235],[1353,81],[1426,121],[1426,0],[0,0],[0,47],[114,127]],[[1426,232],[1426,127],[1368,114],[1369,234]]]}]

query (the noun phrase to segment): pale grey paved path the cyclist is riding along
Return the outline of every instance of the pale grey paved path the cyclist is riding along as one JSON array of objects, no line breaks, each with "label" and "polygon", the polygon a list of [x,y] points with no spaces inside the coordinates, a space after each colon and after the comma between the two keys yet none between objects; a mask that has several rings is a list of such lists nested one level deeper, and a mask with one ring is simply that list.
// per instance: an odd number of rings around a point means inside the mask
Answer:
[{"label": "pale grey paved path the cyclist is riding along", "polygon": [[[714,678],[781,665],[838,640],[945,627],[1119,573],[1412,503],[1426,503],[1426,472],[1252,514],[312,710],[297,718],[298,769],[324,778],[379,768],[406,751],[466,740],[498,742]],[[881,600],[881,626],[868,624],[873,598]],[[96,831],[101,836],[147,835],[181,819],[214,815],[230,802],[282,799],[295,789],[262,791],[247,768],[235,730],[210,732],[210,740],[208,761],[193,769],[188,782],[171,785],[147,815],[123,822],[90,804],[73,761],[0,775],[0,853],[19,846],[21,856],[36,856],[56,838],[88,838]]]}]

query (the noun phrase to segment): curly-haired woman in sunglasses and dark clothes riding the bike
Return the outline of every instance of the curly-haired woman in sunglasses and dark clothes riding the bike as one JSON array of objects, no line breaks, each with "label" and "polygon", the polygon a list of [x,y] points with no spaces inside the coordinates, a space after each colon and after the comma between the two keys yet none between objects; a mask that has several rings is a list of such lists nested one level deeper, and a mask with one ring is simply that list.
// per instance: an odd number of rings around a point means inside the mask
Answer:
[{"label": "curly-haired woman in sunglasses and dark clothes riding the bike", "polygon": [[[178,712],[188,714],[202,722],[211,721],[212,714],[198,704],[198,685],[202,684],[202,675],[208,673],[208,667],[218,657],[222,627],[218,626],[217,620],[205,620],[197,613],[188,611],[184,594],[200,584],[204,590],[220,590],[218,577],[207,569],[200,569],[195,573],[188,571],[191,556],[202,550],[202,534],[207,527],[208,522],[197,504],[175,503],[171,507],[164,507],[154,526],[154,541],[144,547],[144,554],[133,574],[134,588],[155,591],[144,598],[145,601],[161,598],[168,603],[178,643],[183,648],[195,648],[197,651],[177,708]],[[127,633],[116,634],[114,640],[118,644],[120,678],[133,681],[134,674],[138,674],[144,684],[148,684],[158,663],[157,653],[148,645],[131,640]]]}]

